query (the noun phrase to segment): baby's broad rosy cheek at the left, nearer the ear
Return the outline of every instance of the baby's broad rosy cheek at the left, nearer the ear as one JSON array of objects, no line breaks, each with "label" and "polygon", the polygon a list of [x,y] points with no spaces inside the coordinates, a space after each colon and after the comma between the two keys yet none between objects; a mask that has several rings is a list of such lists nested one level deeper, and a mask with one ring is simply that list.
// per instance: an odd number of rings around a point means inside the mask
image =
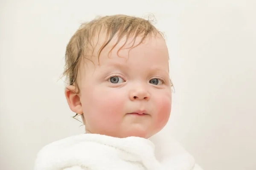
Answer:
[{"label": "baby's broad rosy cheek at the left, nearer the ear", "polygon": [[[125,104],[124,92],[107,87],[89,88],[84,93],[83,111],[93,123],[118,123]],[[89,120],[88,120],[89,121]]]}]

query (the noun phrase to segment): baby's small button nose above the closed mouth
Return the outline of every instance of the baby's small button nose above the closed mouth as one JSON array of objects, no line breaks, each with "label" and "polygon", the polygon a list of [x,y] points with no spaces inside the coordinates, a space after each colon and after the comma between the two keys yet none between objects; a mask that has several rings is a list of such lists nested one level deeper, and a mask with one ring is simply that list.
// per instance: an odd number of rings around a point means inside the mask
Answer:
[{"label": "baby's small button nose above the closed mouth", "polygon": [[130,100],[134,101],[134,100],[149,100],[150,99],[150,94],[148,93],[148,91],[141,87],[141,88],[135,88],[134,90],[130,91],[129,94]]}]

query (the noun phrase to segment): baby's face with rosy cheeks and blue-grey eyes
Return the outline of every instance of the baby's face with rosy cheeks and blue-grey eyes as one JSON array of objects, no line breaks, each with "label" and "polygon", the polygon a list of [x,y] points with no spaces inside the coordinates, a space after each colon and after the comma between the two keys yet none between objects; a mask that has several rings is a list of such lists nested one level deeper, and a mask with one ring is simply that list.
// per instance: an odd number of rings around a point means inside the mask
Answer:
[{"label": "baby's face with rosy cheeks and blue-grey eyes", "polygon": [[[99,40],[94,54],[104,40]],[[81,66],[80,102],[87,133],[149,138],[169,119],[172,92],[166,43],[160,36],[150,37],[131,49],[131,41],[117,54],[123,45],[119,42],[109,54],[113,41],[99,60],[91,57]],[[138,42],[140,37],[135,45]]]}]

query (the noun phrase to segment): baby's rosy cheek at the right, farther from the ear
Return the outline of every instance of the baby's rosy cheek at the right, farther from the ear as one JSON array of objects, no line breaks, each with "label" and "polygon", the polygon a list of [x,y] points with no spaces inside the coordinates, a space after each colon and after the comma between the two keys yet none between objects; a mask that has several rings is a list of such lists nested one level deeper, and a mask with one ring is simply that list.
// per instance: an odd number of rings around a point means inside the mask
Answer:
[{"label": "baby's rosy cheek at the right, farther from the ear", "polygon": [[155,125],[157,129],[162,129],[169,120],[172,110],[172,93],[166,93],[161,95],[156,102],[157,117],[155,119]]}]

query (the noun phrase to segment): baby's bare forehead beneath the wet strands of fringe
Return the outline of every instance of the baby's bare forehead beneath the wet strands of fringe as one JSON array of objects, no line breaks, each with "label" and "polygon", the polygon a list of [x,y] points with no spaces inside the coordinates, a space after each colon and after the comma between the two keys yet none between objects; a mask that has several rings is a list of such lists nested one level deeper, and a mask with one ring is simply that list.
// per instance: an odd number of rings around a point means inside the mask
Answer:
[{"label": "baby's bare forehead beneath the wet strands of fringe", "polygon": [[137,36],[136,38],[131,36],[128,39],[123,37],[117,44],[118,37],[116,35],[102,49],[99,55],[99,51],[108,40],[105,37],[105,33],[100,33],[92,41],[94,48],[91,50],[90,60],[94,64],[105,65],[106,62],[132,62],[134,59],[136,59],[136,62],[143,62],[145,59],[147,62],[156,62],[156,59],[159,62],[169,60],[166,42],[160,34],[150,35],[142,42],[142,36]]}]

